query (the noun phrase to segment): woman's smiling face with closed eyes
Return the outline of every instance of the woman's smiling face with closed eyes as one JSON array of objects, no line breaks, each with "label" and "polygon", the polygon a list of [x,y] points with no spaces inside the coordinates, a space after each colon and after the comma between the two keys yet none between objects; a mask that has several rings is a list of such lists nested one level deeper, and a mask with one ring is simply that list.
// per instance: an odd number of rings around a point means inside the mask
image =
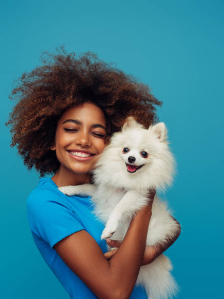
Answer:
[{"label": "woman's smiling face with closed eyes", "polygon": [[84,174],[93,170],[105,147],[106,120],[101,108],[91,103],[69,108],[61,116],[55,136],[60,171]]}]

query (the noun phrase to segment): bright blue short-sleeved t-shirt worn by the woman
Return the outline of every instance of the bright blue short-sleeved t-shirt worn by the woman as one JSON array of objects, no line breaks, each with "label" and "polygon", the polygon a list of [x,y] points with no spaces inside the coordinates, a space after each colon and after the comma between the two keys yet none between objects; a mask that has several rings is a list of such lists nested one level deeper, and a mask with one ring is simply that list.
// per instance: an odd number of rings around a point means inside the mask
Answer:
[{"label": "bright blue short-sleeved t-shirt worn by the woman", "polygon": [[[67,196],[50,178],[41,178],[27,199],[27,214],[34,242],[43,259],[72,299],[96,299],[92,291],[63,262],[53,246],[64,237],[85,230],[107,252],[101,240],[104,225],[92,213],[91,197]],[[131,299],[146,299],[143,287],[135,286]]]}]

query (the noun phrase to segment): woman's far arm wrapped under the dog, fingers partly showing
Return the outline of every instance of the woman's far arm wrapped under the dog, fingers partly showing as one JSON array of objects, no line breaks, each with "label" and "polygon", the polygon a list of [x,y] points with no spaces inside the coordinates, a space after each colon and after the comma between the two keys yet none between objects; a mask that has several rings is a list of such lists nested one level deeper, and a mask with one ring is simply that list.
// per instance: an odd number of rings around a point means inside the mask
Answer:
[{"label": "woman's far arm wrapped under the dog, fingers partly showing", "polygon": [[[169,248],[179,237],[179,235],[181,233],[181,225],[173,216],[171,216],[171,217],[177,223],[178,229],[176,231],[176,234],[172,238],[168,238],[163,244],[146,246],[144,255],[143,255],[142,266],[153,262],[154,259],[156,259],[158,256],[160,256],[164,251],[166,251],[166,249]],[[120,245],[122,243],[122,241],[111,240],[111,239],[107,239],[106,242],[111,247],[120,247]],[[108,251],[104,254],[104,256],[109,260],[112,256],[114,256],[114,254],[117,252],[117,250],[118,249]]]}]

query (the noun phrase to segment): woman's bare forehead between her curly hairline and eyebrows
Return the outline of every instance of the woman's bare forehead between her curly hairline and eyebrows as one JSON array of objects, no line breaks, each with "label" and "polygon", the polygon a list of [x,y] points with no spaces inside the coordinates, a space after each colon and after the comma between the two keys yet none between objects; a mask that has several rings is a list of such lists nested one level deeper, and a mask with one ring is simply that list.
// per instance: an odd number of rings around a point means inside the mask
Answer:
[{"label": "woman's bare forehead between her curly hairline and eyebrows", "polygon": [[100,107],[92,103],[71,107],[61,116],[59,122],[62,124],[66,119],[76,119],[84,125],[101,124],[106,126],[105,116]]}]

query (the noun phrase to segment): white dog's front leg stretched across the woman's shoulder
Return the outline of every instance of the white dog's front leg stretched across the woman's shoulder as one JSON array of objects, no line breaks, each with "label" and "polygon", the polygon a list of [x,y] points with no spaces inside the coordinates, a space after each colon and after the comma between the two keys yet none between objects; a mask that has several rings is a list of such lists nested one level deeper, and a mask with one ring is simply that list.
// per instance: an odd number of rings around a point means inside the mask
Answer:
[{"label": "white dog's front leg stretched across the woman's shoulder", "polygon": [[62,193],[73,196],[76,194],[80,195],[93,195],[96,191],[96,186],[91,184],[82,184],[76,186],[64,186],[58,188]]}]

